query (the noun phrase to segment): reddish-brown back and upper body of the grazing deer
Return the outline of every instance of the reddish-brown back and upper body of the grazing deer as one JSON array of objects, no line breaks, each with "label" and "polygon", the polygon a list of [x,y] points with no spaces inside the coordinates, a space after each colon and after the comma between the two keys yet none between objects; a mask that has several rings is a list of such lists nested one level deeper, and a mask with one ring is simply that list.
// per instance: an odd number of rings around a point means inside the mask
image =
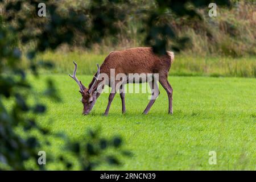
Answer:
[{"label": "reddish-brown back and upper body of the grazing deer", "polygon": [[101,65],[101,73],[110,73],[110,69],[115,69],[115,74],[168,73],[173,61],[173,56],[170,54],[173,53],[168,51],[167,55],[158,56],[148,47],[113,51]]}]

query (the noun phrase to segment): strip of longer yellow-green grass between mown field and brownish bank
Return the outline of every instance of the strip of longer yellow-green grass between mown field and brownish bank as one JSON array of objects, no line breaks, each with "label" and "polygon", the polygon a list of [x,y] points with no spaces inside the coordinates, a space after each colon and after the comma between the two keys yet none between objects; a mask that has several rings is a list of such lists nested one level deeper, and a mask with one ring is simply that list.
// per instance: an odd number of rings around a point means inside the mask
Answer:
[{"label": "strip of longer yellow-green grass between mown field and brownish bank", "polygon": [[[96,63],[102,63],[108,53],[95,54],[83,51],[47,52],[38,57],[38,60],[52,60],[56,67],[44,70],[42,73],[72,73],[72,61],[79,64],[78,73],[92,75],[96,72]],[[172,76],[211,76],[211,77],[255,77],[256,57],[245,56],[240,58],[175,55],[174,64],[170,71]]]}]

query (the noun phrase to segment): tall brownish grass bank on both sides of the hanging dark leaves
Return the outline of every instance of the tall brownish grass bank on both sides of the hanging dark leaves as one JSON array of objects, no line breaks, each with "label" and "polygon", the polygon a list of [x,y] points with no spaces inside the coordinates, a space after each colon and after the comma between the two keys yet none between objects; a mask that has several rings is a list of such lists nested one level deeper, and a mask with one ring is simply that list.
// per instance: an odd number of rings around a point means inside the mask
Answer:
[{"label": "tall brownish grass bank on both sides of the hanging dark leaves", "polygon": [[[156,8],[156,3],[155,1],[133,1],[133,3],[137,8],[130,10],[127,19],[118,22],[120,28],[118,36],[115,38],[108,36],[102,40],[101,44],[94,44],[93,52],[108,53],[113,49],[145,46],[146,34],[141,30],[146,15],[141,14],[141,11]],[[209,7],[201,7],[196,11],[199,16],[193,16],[193,18],[190,16],[180,18],[171,11],[163,9],[163,15],[156,19],[160,23],[168,24],[180,38],[185,36],[190,39],[187,45],[178,47],[185,55],[255,56],[255,1],[231,1],[230,3],[229,7],[222,7],[217,3],[216,17],[208,15]],[[192,9],[195,5],[188,3],[186,6]],[[172,42],[174,40],[170,40],[169,45]]]}]

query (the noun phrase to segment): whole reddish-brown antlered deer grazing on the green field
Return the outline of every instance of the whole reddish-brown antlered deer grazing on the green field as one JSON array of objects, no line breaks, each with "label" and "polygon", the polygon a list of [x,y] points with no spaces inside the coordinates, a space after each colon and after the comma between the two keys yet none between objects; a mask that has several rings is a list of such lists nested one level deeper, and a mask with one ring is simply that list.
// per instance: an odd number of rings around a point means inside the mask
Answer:
[{"label": "whole reddish-brown antlered deer grazing on the green field", "polygon": [[[108,81],[100,80],[100,75],[105,74],[108,77],[110,77],[110,70],[115,70],[115,75],[118,73],[122,73],[125,75],[129,75],[129,73],[144,73],[144,74],[150,74],[150,73],[156,73],[158,74],[159,80],[156,80],[152,78],[151,80],[144,80],[139,81],[141,82],[148,82],[150,83],[150,89],[152,91],[151,99],[146,106],[146,109],[144,109],[143,114],[147,114],[150,110],[151,106],[154,104],[156,98],[159,96],[160,92],[158,89],[158,84],[156,84],[157,81],[160,82],[160,84],[163,86],[163,88],[167,92],[168,96],[168,114],[172,114],[172,86],[168,82],[168,72],[170,71],[171,64],[174,61],[174,52],[166,51],[165,55],[156,55],[151,47],[138,47],[138,48],[130,48],[125,49],[123,51],[112,51],[109,53],[109,55],[105,58],[104,62],[99,66],[97,64],[97,73],[94,75],[92,81],[90,82],[88,88],[86,88],[80,80],[76,77],[77,72],[77,64],[75,61],[73,61],[73,64],[75,64],[75,69],[73,71],[73,75],[69,76],[73,78],[77,82],[77,85],[79,85],[79,92],[81,93],[82,99],[81,102],[84,106],[84,109],[82,111],[83,115],[87,115],[92,110],[94,104],[96,103],[96,100],[100,96],[101,92],[97,92],[97,88],[101,85],[102,88],[104,88],[104,85],[110,86],[110,88],[113,87],[113,85],[117,85],[118,80],[114,81],[114,83],[111,83],[108,79]],[[128,77],[127,80],[130,80]],[[126,80],[126,81],[127,81]],[[126,84],[125,80],[123,80],[124,84]],[[137,83],[137,82],[133,82]],[[121,90],[123,85],[120,86],[119,90]],[[158,90],[158,93],[156,93],[153,97],[153,90]],[[108,105],[106,107],[104,115],[109,114],[110,105],[114,99],[115,94],[117,93],[117,89],[112,89],[112,92],[109,94],[109,100]],[[119,92],[121,101],[122,101],[122,113],[126,113],[126,107],[125,107],[125,92]]]}]

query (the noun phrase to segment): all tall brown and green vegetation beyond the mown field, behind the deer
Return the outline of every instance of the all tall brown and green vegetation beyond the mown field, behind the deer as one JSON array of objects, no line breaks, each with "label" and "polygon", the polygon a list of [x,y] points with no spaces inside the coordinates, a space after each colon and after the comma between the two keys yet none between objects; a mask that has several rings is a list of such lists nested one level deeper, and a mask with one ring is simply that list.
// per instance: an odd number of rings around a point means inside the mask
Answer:
[{"label": "all tall brown and green vegetation beyond the mown field, behind the deer", "polygon": [[[81,6],[73,2],[62,6]],[[69,73],[71,62],[79,63],[81,74],[92,75],[96,63],[102,63],[110,51],[131,47],[147,46],[147,34],[143,23],[147,18],[144,11],[156,9],[155,1],[132,1],[122,5],[128,16],[118,20],[115,36],[104,36],[101,42],[81,48],[82,35],[77,35],[72,47],[62,44],[57,52],[46,52],[38,60],[54,60],[53,73]],[[131,8],[127,10],[127,6]],[[193,6],[191,3],[187,6]],[[217,16],[209,17],[208,7],[198,9],[199,16],[177,16],[163,11],[158,21],[170,26],[181,44],[168,39],[167,49],[175,51],[175,63],[170,75],[175,76],[256,76],[256,8],[254,1],[231,1],[231,6],[217,7]],[[200,18],[203,20],[199,20]],[[188,39],[187,39],[188,38]],[[47,72],[47,71],[46,71]],[[49,73],[49,72],[48,72]]]}]

